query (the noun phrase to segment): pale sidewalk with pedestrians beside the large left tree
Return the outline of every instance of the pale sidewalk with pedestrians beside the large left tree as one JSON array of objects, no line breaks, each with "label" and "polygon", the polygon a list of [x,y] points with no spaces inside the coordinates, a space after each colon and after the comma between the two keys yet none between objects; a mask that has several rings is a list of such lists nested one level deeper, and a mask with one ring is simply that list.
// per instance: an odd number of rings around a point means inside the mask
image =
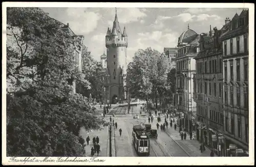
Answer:
[{"label": "pale sidewalk with pedestrians beside the large left tree", "polygon": [[[112,128],[113,129],[113,128]],[[100,153],[99,157],[108,157],[109,156],[109,127],[105,126],[103,130],[90,130],[86,131],[84,129],[80,130],[80,135],[86,141],[87,136],[90,137],[89,146],[86,145],[86,155],[91,156],[91,148],[93,147],[93,137],[99,137]],[[87,144],[87,143],[86,143]],[[112,131],[112,156],[115,156],[115,147],[114,147],[114,133]],[[97,156],[97,155],[94,155]]]}]

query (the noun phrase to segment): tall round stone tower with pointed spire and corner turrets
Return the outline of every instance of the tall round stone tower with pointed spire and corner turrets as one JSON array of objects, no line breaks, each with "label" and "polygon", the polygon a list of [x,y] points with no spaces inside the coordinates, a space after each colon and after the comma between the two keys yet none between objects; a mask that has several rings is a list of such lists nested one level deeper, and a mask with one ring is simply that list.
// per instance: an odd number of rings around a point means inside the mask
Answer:
[{"label": "tall round stone tower with pointed spire and corner turrets", "polygon": [[127,48],[127,35],[125,27],[121,32],[120,25],[117,19],[117,12],[113,22],[112,31],[108,27],[105,36],[105,43],[107,48],[106,53],[106,75],[107,83],[105,85],[106,102],[121,103],[126,99],[124,91],[125,74],[126,74],[126,48]]}]

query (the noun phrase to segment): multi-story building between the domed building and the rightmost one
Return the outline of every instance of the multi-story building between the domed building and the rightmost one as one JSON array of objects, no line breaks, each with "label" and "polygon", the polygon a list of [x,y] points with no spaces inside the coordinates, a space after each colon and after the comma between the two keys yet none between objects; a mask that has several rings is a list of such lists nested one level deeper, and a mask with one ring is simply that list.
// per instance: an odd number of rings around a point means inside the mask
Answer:
[{"label": "multi-story building between the domed building and the rightmost one", "polygon": [[194,100],[197,103],[197,140],[224,155],[221,30],[200,34],[196,58]]}]

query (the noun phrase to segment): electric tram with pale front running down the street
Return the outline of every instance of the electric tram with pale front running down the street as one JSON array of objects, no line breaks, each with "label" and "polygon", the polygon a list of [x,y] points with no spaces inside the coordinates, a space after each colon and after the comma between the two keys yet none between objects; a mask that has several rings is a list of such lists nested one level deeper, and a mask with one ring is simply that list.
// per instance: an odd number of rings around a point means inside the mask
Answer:
[{"label": "electric tram with pale front running down the street", "polygon": [[133,126],[133,145],[138,155],[150,155],[150,137],[140,125]]}]

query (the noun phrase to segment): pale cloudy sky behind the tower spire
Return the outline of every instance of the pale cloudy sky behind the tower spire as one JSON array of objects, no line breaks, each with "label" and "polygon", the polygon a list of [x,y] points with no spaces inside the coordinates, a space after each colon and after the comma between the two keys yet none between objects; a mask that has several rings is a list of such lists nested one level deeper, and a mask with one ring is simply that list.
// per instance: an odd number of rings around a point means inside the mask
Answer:
[{"label": "pale cloudy sky behind the tower spire", "polygon": [[[65,24],[69,23],[76,35],[84,36],[84,45],[94,59],[106,53],[105,35],[112,29],[115,8],[41,8],[49,16]],[[138,49],[151,47],[163,52],[164,47],[176,47],[182,32],[189,29],[197,34],[208,33],[221,27],[225,18],[230,19],[242,8],[117,8],[121,30],[125,26],[128,36],[127,63],[132,61]]]}]

